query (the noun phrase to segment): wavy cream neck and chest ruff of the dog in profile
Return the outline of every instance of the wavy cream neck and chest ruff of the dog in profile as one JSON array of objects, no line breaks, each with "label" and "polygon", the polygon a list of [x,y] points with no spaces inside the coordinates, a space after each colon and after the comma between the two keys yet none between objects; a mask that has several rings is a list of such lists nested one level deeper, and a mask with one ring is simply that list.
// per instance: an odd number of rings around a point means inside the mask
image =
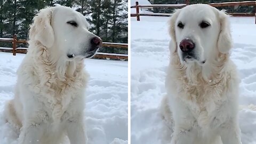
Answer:
[{"label": "wavy cream neck and chest ruff of the dog in profile", "polygon": [[18,77],[18,80],[34,81],[26,83],[28,89],[34,92],[44,105],[51,107],[53,119],[60,121],[70,101],[77,95],[70,93],[70,89],[84,89],[87,84],[87,73],[83,70],[83,61],[52,61],[50,57],[50,52],[45,46],[31,42],[25,59],[34,60],[21,65],[18,73],[23,77]]}]

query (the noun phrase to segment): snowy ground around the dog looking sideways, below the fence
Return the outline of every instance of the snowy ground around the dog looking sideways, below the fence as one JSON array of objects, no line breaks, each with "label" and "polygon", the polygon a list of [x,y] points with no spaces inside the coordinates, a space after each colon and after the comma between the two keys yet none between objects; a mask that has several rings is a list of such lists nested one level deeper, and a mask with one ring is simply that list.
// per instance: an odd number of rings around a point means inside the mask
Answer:
[{"label": "snowy ground around the dog looking sideways, below the fence", "polygon": [[[0,144],[18,143],[18,134],[4,121],[3,108],[13,98],[15,73],[24,57],[0,52]],[[84,111],[89,143],[127,144],[127,61],[89,59],[85,67],[91,75]]]}]

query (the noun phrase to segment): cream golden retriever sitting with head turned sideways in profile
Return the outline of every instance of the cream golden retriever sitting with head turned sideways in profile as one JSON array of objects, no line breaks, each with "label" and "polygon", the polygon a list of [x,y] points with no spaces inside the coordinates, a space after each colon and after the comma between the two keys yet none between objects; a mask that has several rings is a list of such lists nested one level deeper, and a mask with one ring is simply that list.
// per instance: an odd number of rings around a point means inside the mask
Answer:
[{"label": "cream golden retriever sitting with head turned sideways in profile", "polygon": [[87,26],[82,14],[65,6],[46,7],[34,18],[15,96],[5,109],[20,130],[19,144],[57,144],[66,134],[71,144],[86,143],[83,60],[102,42]]}]

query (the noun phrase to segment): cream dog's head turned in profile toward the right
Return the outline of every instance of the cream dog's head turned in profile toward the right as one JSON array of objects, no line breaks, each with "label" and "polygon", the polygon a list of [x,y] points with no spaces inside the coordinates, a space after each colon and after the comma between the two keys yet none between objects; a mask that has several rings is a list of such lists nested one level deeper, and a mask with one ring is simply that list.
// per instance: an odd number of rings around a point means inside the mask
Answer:
[{"label": "cream dog's head turned in profile toward the right", "polygon": [[70,7],[46,7],[33,20],[30,40],[40,42],[68,60],[90,58],[102,43],[100,37],[88,30],[85,17]]}]

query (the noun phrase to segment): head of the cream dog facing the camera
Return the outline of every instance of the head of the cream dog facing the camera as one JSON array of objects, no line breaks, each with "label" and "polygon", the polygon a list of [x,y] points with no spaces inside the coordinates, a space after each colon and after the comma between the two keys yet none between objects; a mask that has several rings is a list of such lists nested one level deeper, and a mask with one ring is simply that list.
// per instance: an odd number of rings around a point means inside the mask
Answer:
[{"label": "head of the cream dog facing the camera", "polygon": [[178,53],[181,62],[203,65],[232,47],[228,15],[210,5],[186,6],[169,23],[170,51]]}]

